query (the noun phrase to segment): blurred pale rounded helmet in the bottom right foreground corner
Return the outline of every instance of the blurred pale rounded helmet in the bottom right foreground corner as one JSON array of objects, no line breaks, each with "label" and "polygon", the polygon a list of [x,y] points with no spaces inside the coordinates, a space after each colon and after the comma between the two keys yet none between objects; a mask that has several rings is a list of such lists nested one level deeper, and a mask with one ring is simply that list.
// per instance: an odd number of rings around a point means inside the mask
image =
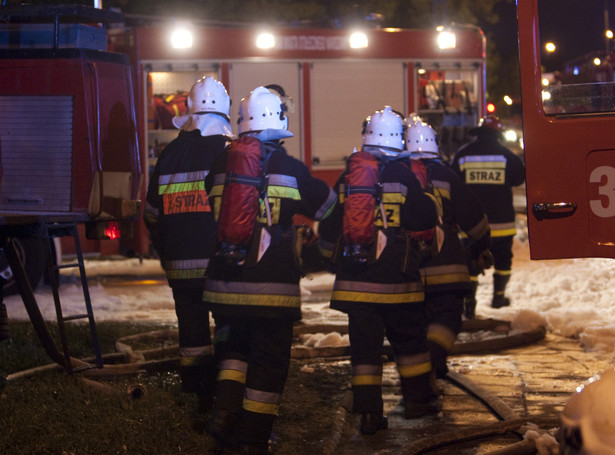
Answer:
[{"label": "blurred pale rounded helmet in the bottom right foreground corner", "polygon": [[615,454],[615,369],[577,388],[561,415],[562,455]]}]

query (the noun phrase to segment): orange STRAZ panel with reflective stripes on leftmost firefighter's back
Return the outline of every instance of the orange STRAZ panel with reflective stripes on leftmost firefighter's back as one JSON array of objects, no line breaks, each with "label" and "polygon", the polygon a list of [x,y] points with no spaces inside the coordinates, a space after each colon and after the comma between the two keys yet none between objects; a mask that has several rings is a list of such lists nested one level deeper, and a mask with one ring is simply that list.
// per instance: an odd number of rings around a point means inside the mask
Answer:
[{"label": "orange STRAZ panel with reflective stripes on leftmost firefighter's back", "polygon": [[158,194],[166,215],[191,212],[210,212],[211,206],[205,191],[207,172],[184,172],[161,175]]}]

